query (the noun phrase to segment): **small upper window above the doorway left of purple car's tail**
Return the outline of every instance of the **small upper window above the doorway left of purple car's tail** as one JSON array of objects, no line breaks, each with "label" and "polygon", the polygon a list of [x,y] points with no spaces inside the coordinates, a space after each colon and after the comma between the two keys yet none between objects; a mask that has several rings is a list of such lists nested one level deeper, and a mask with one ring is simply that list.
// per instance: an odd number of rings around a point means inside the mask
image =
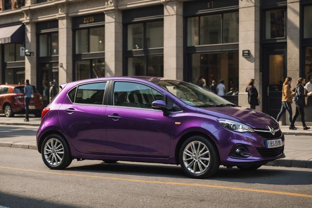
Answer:
[{"label": "small upper window above the doorway left of purple car's tail", "polygon": [[59,54],[59,33],[39,35],[39,56],[49,57]]}]

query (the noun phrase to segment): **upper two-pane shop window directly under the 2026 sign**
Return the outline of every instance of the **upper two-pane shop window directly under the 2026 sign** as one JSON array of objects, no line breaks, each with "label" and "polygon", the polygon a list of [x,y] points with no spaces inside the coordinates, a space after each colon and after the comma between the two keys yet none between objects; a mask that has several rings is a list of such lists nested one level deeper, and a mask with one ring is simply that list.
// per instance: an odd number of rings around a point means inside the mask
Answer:
[{"label": "upper two-pane shop window directly under the 2026 sign", "polygon": [[75,30],[75,53],[105,51],[105,27]]}]

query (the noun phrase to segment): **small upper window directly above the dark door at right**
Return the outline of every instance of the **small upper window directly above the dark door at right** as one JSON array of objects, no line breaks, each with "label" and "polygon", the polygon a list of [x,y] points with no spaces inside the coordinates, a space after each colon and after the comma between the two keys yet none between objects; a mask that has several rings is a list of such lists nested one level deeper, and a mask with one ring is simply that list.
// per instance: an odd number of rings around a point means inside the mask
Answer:
[{"label": "small upper window directly above the dark door at right", "polygon": [[265,38],[285,37],[285,10],[271,10],[265,12]]}]

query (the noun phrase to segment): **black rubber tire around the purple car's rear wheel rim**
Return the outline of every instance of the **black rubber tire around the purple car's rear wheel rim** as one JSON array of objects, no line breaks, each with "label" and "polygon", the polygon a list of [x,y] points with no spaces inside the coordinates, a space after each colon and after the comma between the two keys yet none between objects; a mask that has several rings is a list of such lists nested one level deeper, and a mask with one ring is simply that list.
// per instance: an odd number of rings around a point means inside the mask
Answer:
[{"label": "black rubber tire around the purple car's rear wheel rim", "polygon": [[[64,157],[63,157],[63,160],[60,164],[58,164],[57,166],[52,166],[47,160],[46,158],[44,157],[44,145],[46,145],[46,143],[52,139],[52,138],[55,138],[55,139],[58,139],[63,147],[64,147]],[[62,169],[65,169],[68,167],[68,165],[71,163],[72,161],[72,157],[71,157],[71,153],[70,153],[70,149],[69,149],[69,146],[67,144],[67,142],[65,141],[65,139],[63,137],[61,137],[60,135],[58,134],[51,134],[49,136],[47,136],[46,138],[44,138],[43,142],[42,142],[42,145],[41,145],[41,157],[42,157],[42,160],[44,162],[44,164],[47,165],[48,168],[50,169],[54,169],[54,170],[62,170]]]}]

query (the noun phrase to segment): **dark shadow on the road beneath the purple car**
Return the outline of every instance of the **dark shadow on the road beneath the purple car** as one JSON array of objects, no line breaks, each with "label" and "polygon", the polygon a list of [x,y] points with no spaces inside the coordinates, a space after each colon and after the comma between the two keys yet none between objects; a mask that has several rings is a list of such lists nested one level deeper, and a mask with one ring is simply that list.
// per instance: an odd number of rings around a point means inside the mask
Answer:
[{"label": "dark shadow on the road beneath the purple car", "polygon": [[[273,168],[273,169],[272,169]],[[174,165],[149,165],[117,162],[113,164],[100,163],[83,165],[66,169],[75,172],[92,172],[116,175],[148,176],[159,178],[188,178],[178,166]],[[268,185],[311,185],[312,172],[302,170],[281,170],[266,167],[256,171],[241,171],[237,168],[220,168],[216,175],[208,180],[268,184]]]}]

